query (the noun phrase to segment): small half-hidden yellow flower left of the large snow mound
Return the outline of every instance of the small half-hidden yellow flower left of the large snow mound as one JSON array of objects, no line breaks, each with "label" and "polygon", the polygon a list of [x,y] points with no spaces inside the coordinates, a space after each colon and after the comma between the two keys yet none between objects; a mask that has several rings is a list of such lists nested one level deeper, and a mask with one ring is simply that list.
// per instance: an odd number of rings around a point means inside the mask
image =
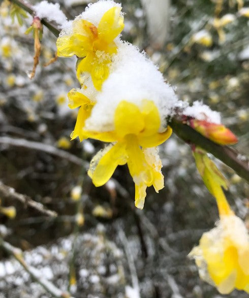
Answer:
[{"label": "small half-hidden yellow flower left of the large snow mound", "polygon": [[85,125],[85,120],[90,116],[91,109],[94,107],[95,102],[91,101],[83,93],[77,91],[76,89],[71,89],[68,93],[69,98],[69,108],[75,109],[80,107],[74,131],[71,134],[71,140],[79,137],[80,141],[85,139],[83,134],[83,127]]}]

